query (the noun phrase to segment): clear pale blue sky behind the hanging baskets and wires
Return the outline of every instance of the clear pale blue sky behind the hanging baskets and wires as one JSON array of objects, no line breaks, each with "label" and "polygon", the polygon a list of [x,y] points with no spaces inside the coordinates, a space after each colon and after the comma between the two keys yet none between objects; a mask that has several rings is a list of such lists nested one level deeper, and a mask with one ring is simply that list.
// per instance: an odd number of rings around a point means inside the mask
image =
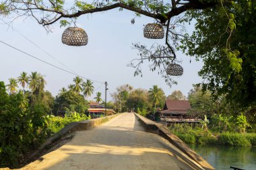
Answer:
[{"label": "clear pale blue sky behind the hanging baskets and wires", "polygon": [[[196,62],[193,58],[189,63],[189,56],[185,56],[182,52],[177,52],[177,58],[183,60],[181,65],[184,69],[183,76],[174,77],[178,85],[168,87],[157,71],[149,70],[147,62],[143,62],[143,77],[133,76],[135,69],[127,67],[127,64],[139,56],[137,56],[136,50],[131,49],[132,43],[141,42],[141,44],[151,46],[155,42],[164,44],[164,39],[150,40],[143,37],[143,26],[154,22],[154,19],[141,16],[135,19],[135,24],[132,25],[130,22],[132,17],[134,14],[125,9],[121,12],[119,9],[113,9],[80,16],[77,26],[86,30],[89,40],[87,46],[79,47],[62,44],[61,34],[65,28],[60,28],[59,23],[53,25],[53,32],[47,33],[34,19],[23,20],[20,18],[13,22],[13,28],[78,75],[100,82],[107,81],[108,99],[116,87],[127,83],[135,88],[143,89],[150,89],[153,85],[158,85],[166,95],[170,95],[174,90],[181,90],[187,96],[189,90],[193,88],[192,85],[202,81],[197,72],[203,63]],[[8,18],[3,19],[9,21]],[[193,28],[187,28],[187,30],[190,29]],[[0,40],[3,42],[51,62],[53,65],[67,69],[1,21],[0,32]],[[67,85],[73,83],[74,75],[55,69],[1,43],[0,50],[0,81],[4,81],[5,84],[9,82],[9,78],[18,77],[22,71],[27,73],[38,71],[44,75],[47,83],[46,90],[51,91],[53,95],[57,95],[61,87],[67,88]],[[95,97],[97,91],[104,94],[104,85],[94,82],[94,87],[97,90],[94,91],[91,99]]]}]

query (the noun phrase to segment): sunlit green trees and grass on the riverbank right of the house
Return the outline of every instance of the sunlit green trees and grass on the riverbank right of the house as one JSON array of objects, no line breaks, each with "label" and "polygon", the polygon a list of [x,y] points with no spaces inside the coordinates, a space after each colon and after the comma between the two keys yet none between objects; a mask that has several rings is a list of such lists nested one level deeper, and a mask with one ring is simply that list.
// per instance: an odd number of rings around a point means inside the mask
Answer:
[{"label": "sunlit green trees and grass on the riverbank right of the house", "polygon": [[212,96],[195,86],[188,95],[189,114],[203,120],[199,124],[174,124],[170,131],[187,144],[222,144],[229,146],[255,146],[255,106],[239,108],[226,101],[224,95]]}]

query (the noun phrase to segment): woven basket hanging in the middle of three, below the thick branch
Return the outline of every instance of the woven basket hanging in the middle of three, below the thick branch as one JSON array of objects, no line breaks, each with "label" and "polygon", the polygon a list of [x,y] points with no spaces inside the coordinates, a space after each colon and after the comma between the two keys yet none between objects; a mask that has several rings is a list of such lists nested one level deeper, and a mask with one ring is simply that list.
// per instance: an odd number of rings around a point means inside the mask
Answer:
[{"label": "woven basket hanging in the middle of three, below the thick branch", "polygon": [[164,28],[160,24],[147,24],[144,28],[144,37],[151,39],[164,38]]}]

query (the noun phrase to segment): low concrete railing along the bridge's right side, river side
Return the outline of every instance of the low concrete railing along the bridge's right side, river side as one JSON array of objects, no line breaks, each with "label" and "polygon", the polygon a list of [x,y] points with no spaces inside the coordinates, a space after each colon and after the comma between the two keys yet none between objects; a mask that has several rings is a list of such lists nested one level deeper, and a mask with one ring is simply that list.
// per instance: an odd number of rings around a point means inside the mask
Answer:
[{"label": "low concrete railing along the bridge's right side, river side", "polygon": [[147,132],[152,132],[154,134],[158,134],[168,140],[171,144],[179,148],[183,153],[185,153],[187,156],[189,156],[191,159],[199,163],[204,169],[207,170],[213,170],[214,167],[207,163],[201,156],[199,156],[195,151],[193,151],[187,144],[185,144],[180,138],[178,138],[176,135],[172,134],[168,128],[163,126],[162,124],[158,124],[156,122],[153,122],[152,120],[149,120],[148,118],[145,118],[139,114],[134,113],[137,118],[139,118],[139,121],[141,124],[146,128]]}]

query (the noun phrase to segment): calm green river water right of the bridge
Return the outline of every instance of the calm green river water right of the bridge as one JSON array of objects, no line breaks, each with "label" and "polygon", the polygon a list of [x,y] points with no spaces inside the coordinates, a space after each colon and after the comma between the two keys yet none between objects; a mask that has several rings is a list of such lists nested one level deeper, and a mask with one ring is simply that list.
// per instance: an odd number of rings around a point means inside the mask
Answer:
[{"label": "calm green river water right of the bridge", "polygon": [[216,170],[232,170],[237,167],[246,170],[256,170],[256,146],[190,146],[201,155]]}]

